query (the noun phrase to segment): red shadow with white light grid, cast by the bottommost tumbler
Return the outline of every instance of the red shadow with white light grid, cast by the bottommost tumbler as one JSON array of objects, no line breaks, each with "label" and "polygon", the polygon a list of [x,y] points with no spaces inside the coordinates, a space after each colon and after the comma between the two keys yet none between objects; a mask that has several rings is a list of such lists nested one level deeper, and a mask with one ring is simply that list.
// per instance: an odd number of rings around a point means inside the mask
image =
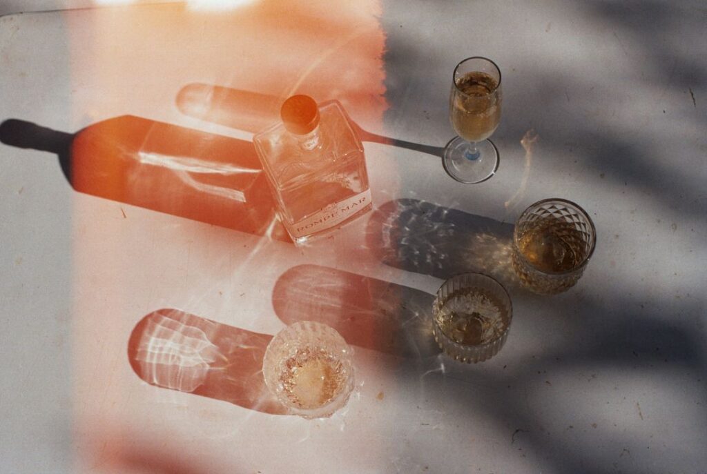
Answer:
[{"label": "red shadow with white light grid, cast by the bottommost tumbler", "polygon": [[286,414],[262,376],[272,336],[179,309],[159,309],[136,324],[128,360],[148,384],[215,398],[272,415]]}]

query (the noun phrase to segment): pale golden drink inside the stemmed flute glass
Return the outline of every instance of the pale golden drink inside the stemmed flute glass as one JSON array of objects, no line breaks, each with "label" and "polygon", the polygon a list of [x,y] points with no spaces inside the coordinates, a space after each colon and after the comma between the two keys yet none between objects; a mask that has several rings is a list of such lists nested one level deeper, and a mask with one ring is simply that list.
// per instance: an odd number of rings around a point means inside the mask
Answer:
[{"label": "pale golden drink inside the stemmed flute glass", "polygon": [[450,107],[452,126],[464,140],[486,140],[501,120],[501,97],[495,93],[498,82],[489,74],[474,71],[457,78],[455,88]]}]

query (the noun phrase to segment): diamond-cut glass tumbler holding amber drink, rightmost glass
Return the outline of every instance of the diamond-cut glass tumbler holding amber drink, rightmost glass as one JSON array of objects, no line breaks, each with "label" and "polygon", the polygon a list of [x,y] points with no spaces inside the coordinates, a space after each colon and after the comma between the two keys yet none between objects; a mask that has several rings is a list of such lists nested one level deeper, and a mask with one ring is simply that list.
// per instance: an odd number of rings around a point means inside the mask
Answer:
[{"label": "diamond-cut glass tumbler holding amber drink, rightmost glass", "polygon": [[594,224],[582,208],[563,199],[545,199],[518,218],[513,268],[525,287],[554,295],[577,283],[595,243]]}]

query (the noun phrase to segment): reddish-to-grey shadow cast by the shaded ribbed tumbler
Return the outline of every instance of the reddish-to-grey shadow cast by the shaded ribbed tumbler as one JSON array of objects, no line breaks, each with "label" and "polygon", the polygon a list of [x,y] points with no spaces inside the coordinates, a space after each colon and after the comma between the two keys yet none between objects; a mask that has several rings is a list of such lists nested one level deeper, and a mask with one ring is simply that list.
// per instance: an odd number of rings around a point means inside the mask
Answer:
[{"label": "reddish-to-grey shadow cast by the shaded ribbed tumbler", "polygon": [[432,337],[433,300],[421,290],[317,265],[290,268],[272,294],[285,324],[317,321],[351,345],[418,358],[440,352]]}]

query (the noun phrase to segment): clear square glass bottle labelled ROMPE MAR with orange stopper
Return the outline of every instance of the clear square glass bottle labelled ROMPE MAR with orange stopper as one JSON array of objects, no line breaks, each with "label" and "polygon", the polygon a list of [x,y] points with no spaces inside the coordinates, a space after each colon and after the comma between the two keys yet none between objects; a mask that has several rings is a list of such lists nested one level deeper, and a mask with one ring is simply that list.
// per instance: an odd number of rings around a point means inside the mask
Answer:
[{"label": "clear square glass bottle labelled ROMPE MAR with orange stopper", "polygon": [[254,142],[293,241],[306,242],[370,211],[363,145],[341,104],[293,95],[280,116],[282,122]]}]

